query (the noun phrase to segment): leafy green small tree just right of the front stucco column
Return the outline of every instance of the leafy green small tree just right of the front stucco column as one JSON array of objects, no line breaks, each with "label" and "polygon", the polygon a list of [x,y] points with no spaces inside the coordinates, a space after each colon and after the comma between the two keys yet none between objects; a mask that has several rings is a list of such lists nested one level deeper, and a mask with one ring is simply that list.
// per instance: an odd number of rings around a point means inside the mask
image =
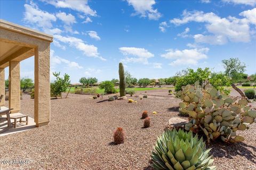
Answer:
[{"label": "leafy green small tree just right of the front stucco column", "polygon": [[63,78],[60,77],[60,72],[54,72],[53,75],[56,80],[51,83],[51,95],[57,98],[58,96],[61,96],[62,92],[66,91],[70,84],[70,80],[69,75],[66,73]]}]

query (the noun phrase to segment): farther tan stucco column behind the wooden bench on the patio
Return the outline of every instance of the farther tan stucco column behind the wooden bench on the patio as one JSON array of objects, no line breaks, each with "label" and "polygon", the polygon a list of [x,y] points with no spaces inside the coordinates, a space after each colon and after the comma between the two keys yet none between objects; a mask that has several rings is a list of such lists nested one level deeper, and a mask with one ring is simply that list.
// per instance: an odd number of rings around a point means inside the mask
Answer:
[{"label": "farther tan stucco column behind the wooden bench on the patio", "polygon": [[9,108],[20,111],[20,62],[9,62]]}]

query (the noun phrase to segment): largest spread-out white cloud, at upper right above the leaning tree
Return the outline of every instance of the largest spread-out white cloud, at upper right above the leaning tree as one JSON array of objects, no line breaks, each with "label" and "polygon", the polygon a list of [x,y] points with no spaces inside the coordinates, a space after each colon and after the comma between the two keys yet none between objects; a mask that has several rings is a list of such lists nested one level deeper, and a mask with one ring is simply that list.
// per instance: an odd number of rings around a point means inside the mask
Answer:
[{"label": "largest spread-out white cloud, at upper right above the leaning tree", "polygon": [[175,25],[185,24],[191,21],[206,23],[205,27],[207,31],[211,33],[211,35],[195,35],[194,38],[199,43],[221,45],[227,43],[227,41],[250,41],[250,25],[249,20],[247,19],[237,19],[231,16],[228,16],[228,18],[220,18],[212,12],[187,12],[186,10],[183,11],[182,16],[182,19],[175,18],[170,22]]}]

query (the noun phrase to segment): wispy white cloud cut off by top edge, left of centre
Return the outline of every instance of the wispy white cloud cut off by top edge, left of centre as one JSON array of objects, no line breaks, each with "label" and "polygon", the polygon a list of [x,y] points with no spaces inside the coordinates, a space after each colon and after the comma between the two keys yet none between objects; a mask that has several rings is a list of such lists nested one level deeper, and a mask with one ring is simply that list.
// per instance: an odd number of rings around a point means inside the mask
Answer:
[{"label": "wispy white cloud cut off by top edge, left of centre", "polygon": [[91,16],[97,16],[97,12],[95,10],[92,10],[90,6],[88,5],[88,1],[80,1],[80,0],[42,0],[48,4],[52,4],[57,8],[70,8],[74,11],[82,12],[85,15],[91,15]]}]

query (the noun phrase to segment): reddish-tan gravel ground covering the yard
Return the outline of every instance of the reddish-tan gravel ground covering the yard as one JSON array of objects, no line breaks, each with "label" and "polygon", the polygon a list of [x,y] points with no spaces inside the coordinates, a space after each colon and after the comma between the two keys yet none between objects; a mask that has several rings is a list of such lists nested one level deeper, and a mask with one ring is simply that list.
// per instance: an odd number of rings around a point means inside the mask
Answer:
[{"label": "reddish-tan gravel ground covering the yard", "polygon": [[[178,116],[179,100],[171,96],[105,101],[86,95],[51,100],[49,125],[1,137],[1,160],[28,160],[25,165],[2,169],[150,169],[150,151],[170,117]],[[34,117],[34,100],[23,95],[21,112]],[[151,126],[142,129],[143,110]],[[156,111],[157,114],[151,114]],[[126,140],[113,144],[113,133],[122,127]],[[212,143],[214,165],[219,169],[256,169],[256,125],[242,132],[245,141],[235,145]],[[0,168],[1,169],[1,168]]]}]

